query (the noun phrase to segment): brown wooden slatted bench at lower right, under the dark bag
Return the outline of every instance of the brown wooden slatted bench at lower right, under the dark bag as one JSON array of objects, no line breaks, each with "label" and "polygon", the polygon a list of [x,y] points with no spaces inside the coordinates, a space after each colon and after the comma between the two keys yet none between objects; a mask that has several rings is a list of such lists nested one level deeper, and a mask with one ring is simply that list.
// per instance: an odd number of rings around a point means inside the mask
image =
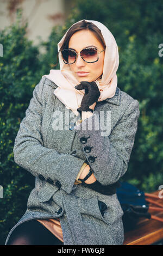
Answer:
[{"label": "brown wooden slatted bench at lower right, under the dark bag", "polygon": [[[155,191],[151,194],[158,196],[159,191]],[[153,199],[155,202],[162,204],[162,199]],[[152,204],[149,204],[154,206]],[[163,212],[154,210],[148,211],[150,214],[158,216],[163,220]],[[156,220],[148,220],[147,218],[140,218],[140,221],[136,224],[134,230],[130,230],[124,233],[123,245],[152,245],[153,243],[163,240],[163,222]]]}]

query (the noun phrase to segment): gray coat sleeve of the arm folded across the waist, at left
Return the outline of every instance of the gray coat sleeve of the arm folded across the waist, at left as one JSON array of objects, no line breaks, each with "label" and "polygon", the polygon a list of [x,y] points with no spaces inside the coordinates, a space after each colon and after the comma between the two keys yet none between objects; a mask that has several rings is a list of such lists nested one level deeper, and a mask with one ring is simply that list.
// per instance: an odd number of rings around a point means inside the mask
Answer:
[{"label": "gray coat sleeve of the arm folded across the waist, at left", "polygon": [[51,179],[54,186],[55,182],[59,181],[61,188],[71,193],[84,160],[43,147],[41,123],[45,79],[41,78],[36,85],[26,115],[21,121],[13,149],[14,161],[34,176],[41,175],[46,180]]}]

